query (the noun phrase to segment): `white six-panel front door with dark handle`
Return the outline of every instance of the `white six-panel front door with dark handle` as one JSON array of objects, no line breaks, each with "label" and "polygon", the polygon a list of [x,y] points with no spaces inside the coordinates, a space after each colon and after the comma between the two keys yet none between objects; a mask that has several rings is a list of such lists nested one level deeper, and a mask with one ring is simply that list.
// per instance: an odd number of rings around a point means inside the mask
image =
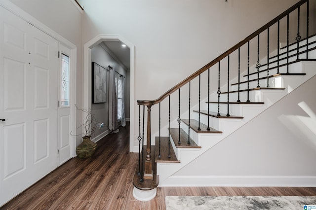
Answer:
[{"label": "white six-panel front door with dark handle", "polygon": [[58,165],[58,42],[0,6],[0,206]]}]

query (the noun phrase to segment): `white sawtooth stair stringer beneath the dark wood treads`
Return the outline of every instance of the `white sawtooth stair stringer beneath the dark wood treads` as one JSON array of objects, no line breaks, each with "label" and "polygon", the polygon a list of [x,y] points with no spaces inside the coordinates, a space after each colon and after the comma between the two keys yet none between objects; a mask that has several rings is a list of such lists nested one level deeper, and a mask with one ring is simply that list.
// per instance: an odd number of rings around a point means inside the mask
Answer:
[{"label": "white sawtooth stair stringer beneath the dark wood treads", "polygon": [[[216,124],[218,126],[214,126],[214,123],[211,123],[210,126],[219,131],[222,131],[222,134],[197,134],[191,129],[190,137],[193,137],[193,140],[195,140],[197,144],[201,146],[201,148],[176,148],[173,143],[173,140],[170,140],[171,145],[177,155],[177,158],[178,160],[180,160],[180,163],[157,163],[157,174],[159,175],[158,186],[170,186],[170,182],[168,181],[168,179],[172,180],[172,175],[174,175],[177,171],[179,171],[184,166],[195,160],[198,156],[200,156],[201,154],[215,146],[221,140],[224,140],[226,137],[228,137],[230,134],[232,134],[238,128],[240,128],[242,125],[246,124],[251,119],[255,118],[258,114],[266,110],[271,105],[275,104],[277,101],[281,100],[292,90],[296,89],[316,74],[316,62],[302,61],[292,65],[296,65],[297,68],[301,68],[302,72],[305,72],[306,75],[303,77],[298,76],[299,78],[296,77],[293,79],[291,79],[290,76],[282,76],[282,85],[284,85],[285,90],[253,91],[257,92],[257,97],[260,97],[260,100],[265,102],[265,105],[241,105],[240,110],[242,116],[244,117],[243,119],[226,119],[211,117],[212,121],[216,121]],[[298,82],[298,80],[300,82]],[[202,101],[205,100],[206,99]],[[253,111],[254,109],[255,111]],[[196,116],[194,118],[197,119]],[[207,117],[201,117],[200,120],[202,123],[207,124]],[[181,124],[181,127],[187,132],[188,128],[186,128],[186,125],[184,125],[184,123]]]}]

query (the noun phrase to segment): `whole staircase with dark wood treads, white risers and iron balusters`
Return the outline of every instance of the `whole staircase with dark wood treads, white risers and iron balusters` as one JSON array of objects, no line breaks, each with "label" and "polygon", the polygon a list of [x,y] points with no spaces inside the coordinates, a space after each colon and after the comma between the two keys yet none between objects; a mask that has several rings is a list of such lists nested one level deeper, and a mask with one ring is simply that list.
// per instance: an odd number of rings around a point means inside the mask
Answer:
[{"label": "whole staircase with dark wood treads, white risers and iron balusters", "polygon": [[[157,100],[138,101],[137,189],[190,186],[176,173],[316,74],[316,35],[310,35],[311,23],[304,29],[299,26],[302,15],[309,20],[307,11],[311,12],[309,1],[299,1]],[[289,14],[297,12],[297,22],[289,23]],[[287,33],[280,37],[284,19]],[[289,37],[290,24],[298,29],[294,38]],[[159,106],[155,111],[154,105]],[[158,116],[155,123],[152,112]],[[153,125],[158,129],[152,135]]]}]

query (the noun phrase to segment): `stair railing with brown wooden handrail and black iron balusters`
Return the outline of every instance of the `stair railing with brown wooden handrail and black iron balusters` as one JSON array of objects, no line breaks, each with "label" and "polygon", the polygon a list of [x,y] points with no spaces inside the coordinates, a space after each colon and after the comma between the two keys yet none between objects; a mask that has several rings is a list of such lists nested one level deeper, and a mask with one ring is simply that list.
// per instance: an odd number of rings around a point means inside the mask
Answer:
[{"label": "stair railing with brown wooden handrail and black iron balusters", "polygon": [[[247,36],[245,39],[234,45],[232,48],[218,56],[216,59],[202,67],[201,69],[197,70],[195,73],[184,79],[182,82],[175,85],[173,88],[165,92],[163,95],[161,95],[156,100],[139,100],[137,101],[139,107],[139,145],[140,145],[140,152],[143,151],[144,147],[144,121],[145,121],[145,109],[144,107],[147,106],[147,135],[146,135],[146,155],[140,155],[139,156],[139,178],[140,182],[143,182],[144,179],[153,179],[153,156],[151,151],[151,112],[152,112],[152,106],[159,104],[159,115],[158,115],[158,130],[159,130],[159,138],[160,138],[160,126],[161,126],[161,107],[160,103],[162,103],[166,98],[168,98],[168,102],[166,102],[165,106],[168,106],[168,114],[165,114],[164,116],[168,116],[168,128],[170,129],[170,110],[174,110],[170,106],[170,95],[176,95],[178,103],[177,107],[177,120],[179,126],[179,143],[180,143],[180,125],[181,125],[181,113],[184,113],[188,111],[188,117],[189,117],[189,131],[190,132],[190,109],[192,109],[191,104],[192,103],[192,81],[197,78],[197,85],[195,86],[195,89],[198,89],[198,93],[195,95],[198,95],[197,100],[197,106],[198,106],[198,129],[200,129],[200,104],[201,104],[201,97],[204,97],[205,100],[209,102],[210,97],[210,89],[211,85],[216,84],[215,91],[217,94],[217,110],[215,114],[210,111],[209,104],[207,105],[207,115],[208,116],[217,116],[217,117],[231,117],[230,110],[229,110],[229,104],[230,102],[230,95],[236,93],[237,94],[237,101],[234,103],[240,103],[239,94],[241,92],[246,92],[247,96],[245,99],[245,102],[243,103],[251,103],[249,99],[249,91],[253,89],[269,89],[269,78],[273,77],[274,75],[270,74],[270,71],[272,69],[276,70],[277,74],[283,73],[283,74],[290,74],[289,72],[289,64],[291,63],[291,58],[296,58],[297,60],[302,59],[310,59],[309,58],[309,52],[311,50],[315,49],[314,47],[311,47],[311,43],[309,43],[309,28],[310,28],[310,1],[311,0],[300,0],[295,5],[278,15],[276,18],[274,18],[272,21],[252,33],[251,35]],[[314,11],[314,10],[313,10]],[[314,11],[315,12],[315,11]],[[294,20],[293,20],[294,19]],[[290,21],[291,20],[291,21]],[[313,22],[315,23],[315,22]],[[293,27],[293,24],[295,26]],[[283,29],[286,28],[286,31]],[[291,31],[290,29],[295,28],[295,32]],[[314,32],[315,33],[315,32]],[[295,37],[292,35],[295,34]],[[291,36],[290,36],[291,35]],[[304,36],[304,38],[302,38]],[[280,42],[283,40],[286,42],[286,52],[282,53],[280,51]],[[303,43],[303,40],[305,41]],[[295,43],[297,47],[295,49],[290,49],[290,44]],[[263,43],[265,44],[264,48],[262,47]],[[300,44],[301,43],[301,44]],[[302,44],[303,43],[303,44]],[[260,47],[261,45],[261,47]],[[254,51],[254,53],[253,53]],[[274,52],[275,55],[271,56],[271,53]],[[255,54],[255,56],[253,56]],[[241,57],[244,57],[246,62],[241,63]],[[264,59],[264,61],[263,61]],[[231,61],[230,61],[231,60]],[[256,60],[256,61],[254,61]],[[293,59],[292,59],[293,60]],[[227,64],[226,64],[227,62]],[[231,62],[231,63],[230,63]],[[234,63],[233,63],[234,62]],[[266,64],[260,64],[260,62],[266,62]],[[233,63],[233,64],[232,64]],[[224,66],[224,68],[223,68]],[[240,69],[243,66],[243,68],[246,69],[247,73],[244,75],[246,77],[246,81],[240,81]],[[256,69],[255,72],[250,72],[250,68],[254,66]],[[285,67],[285,72],[280,72],[281,67]],[[230,72],[230,69],[234,68],[235,70],[233,72]],[[263,69],[264,68],[264,69]],[[224,70],[221,70],[224,69]],[[210,71],[211,70],[211,71]],[[207,87],[203,88],[203,90],[207,89],[205,93],[201,93],[201,74],[203,72],[207,71],[207,74],[205,75],[205,83],[207,83]],[[211,72],[211,73],[210,73]],[[216,72],[216,76],[214,76],[214,72]],[[266,73],[262,76],[262,73]],[[213,74],[213,76],[211,75]],[[238,82],[236,83],[238,85],[237,90],[232,91],[230,89],[230,74],[235,75],[235,77],[238,78]],[[257,77],[250,79],[249,76],[255,74]],[[223,78],[224,75],[225,77]],[[261,76],[260,76],[261,75]],[[204,74],[203,74],[204,76]],[[226,78],[227,76],[227,78]],[[266,87],[260,87],[260,80],[266,80]],[[223,81],[225,81],[225,84],[223,85]],[[254,81],[256,83],[255,87],[250,87],[249,83],[251,81]],[[247,83],[246,89],[241,90],[240,84]],[[235,84],[235,85],[236,85]],[[188,104],[185,105],[185,108],[182,108],[181,103],[183,102],[182,97],[184,94],[180,94],[180,89],[184,88],[189,89],[189,91],[186,93],[185,97],[188,97]],[[189,87],[187,87],[189,86]],[[227,88],[227,92],[223,92],[223,86]],[[227,86],[227,87],[226,87]],[[214,86],[212,86],[214,89]],[[178,93],[175,93],[178,92]],[[175,93],[175,94],[173,94]],[[226,94],[227,97],[225,98],[226,101],[221,101],[221,95]],[[201,96],[202,95],[202,96]],[[174,103],[172,103],[174,104]],[[220,113],[220,105],[224,104],[227,105],[227,113],[221,114]],[[141,106],[143,107],[143,129],[141,132]],[[174,113],[174,111],[173,111]],[[209,117],[208,117],[209,118]],[[209,119],[207,120],[207,130],[210,129],[209,125]],[[141,143],[142,142],[142,143]],[[190,133],[188,138],[188,144],[190,144]],[[170,147],[170,136],[169,136],[169,147]],[[156,145],[158,146],[158,145]],[[170,151],[170,148],[169,148]],[[160,154],[160,141],[159,141],[159,156]],[[170,152],[168,154],[170,156]],[[146,157],[144,161],[142,161],[143,157]],[[157,183],[158,184],[158,183]],[[137,186],[136,186],[137,187]]]}]

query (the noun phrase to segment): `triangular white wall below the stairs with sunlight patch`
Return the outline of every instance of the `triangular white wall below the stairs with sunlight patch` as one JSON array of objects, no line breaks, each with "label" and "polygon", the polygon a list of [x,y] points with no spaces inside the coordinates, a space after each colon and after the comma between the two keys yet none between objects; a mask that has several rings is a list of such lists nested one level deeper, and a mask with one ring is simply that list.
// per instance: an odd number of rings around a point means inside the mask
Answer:
[{"label": "triangular white wall below the stairs with sunlight patch", "polygon": [[315,178],[315,90],[316,76],[203,153],[175,176]]}]

